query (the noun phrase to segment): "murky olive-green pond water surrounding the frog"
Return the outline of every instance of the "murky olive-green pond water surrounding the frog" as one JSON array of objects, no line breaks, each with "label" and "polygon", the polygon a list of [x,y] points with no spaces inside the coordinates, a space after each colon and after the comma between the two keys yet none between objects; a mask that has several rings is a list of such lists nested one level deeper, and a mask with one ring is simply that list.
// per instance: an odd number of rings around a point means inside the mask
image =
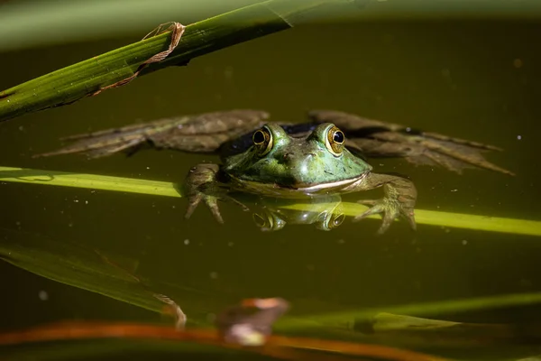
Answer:
[{"label": "murky olive-green pond water surrounding the frog", "polygon": [[[372,161],[375,171],[410,176],[417,185],[417,208],[541,220],[540,35],[541,23],[299,26],[192,60],[188,67],[160,70],[71,106],[5,122],[0,125],[0,165],[179,182],[197,162],[217,162],[217,157],[169,151],[93,161],[32,155],[58,148],[63,136],[163,116],[247,107],[267,110],[273,119],[301,122],[309,109],[331,108],[505,149],[488,159],[515,177]],[[0,88],[139,38],[134,34],[3,53]],[[60,319],[167,325],[170,320],[158,312],[160,302],[145,291],[151,289],[179,303],[188,314],[188,327],[208,325],[215,312],[243,298],[280,296],[293,308],[277,332],[371,342],[353,330],[355,312],[399,313],[396,307],[417,303],[541,292],[538,236],[424,225],[413,234],[403,222],[376,236],[379,220],[352,223],[351,218],[331,232],[310,225],[261,232],[250,214],[230,204],[222,204],[225,225],[218,225],[204,207],[184,220],[186,199],[8,182],[0,183],[0,199],[0,256],[8,261],[0,263],[4,331]],[[146,288],[104,263],[96,250],[140,277]],[[422,316],[523,324],[541,323],[540,310],[529,305]],[[331,314],[346,316],[306,329],[294,321],[310,323],[316,315]],[[461,359],[519,359],[541,354],[539,338],[530,336],[516,334],[475,347],[460,342],[451,347],[445,343],[451,337],[443,337],[441,344],[407,337],[375,341]],[[100,345],[102,351],[116,349]],[[100,359],[87,343],[10,347],[0,349],[0,355],[54,359],[60,348],[67,359],[90,354]],[[111,351],[111,357],[142,355],[133,350],[124,356]]]}]

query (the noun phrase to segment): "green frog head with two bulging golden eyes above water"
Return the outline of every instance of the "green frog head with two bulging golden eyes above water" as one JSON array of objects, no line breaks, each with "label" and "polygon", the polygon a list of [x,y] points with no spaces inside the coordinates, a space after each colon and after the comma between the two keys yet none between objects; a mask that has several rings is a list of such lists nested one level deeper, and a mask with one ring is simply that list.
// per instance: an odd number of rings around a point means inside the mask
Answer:
[{"label": "green frog head with two bulging golden eyes above water", "polygon": [[223,170],[238,180],[302,189],[356,179],[371,166],[345,148],[344,133],[331,123],[302,138],[267,124],[253,132],[246,152],[225,159]]}]

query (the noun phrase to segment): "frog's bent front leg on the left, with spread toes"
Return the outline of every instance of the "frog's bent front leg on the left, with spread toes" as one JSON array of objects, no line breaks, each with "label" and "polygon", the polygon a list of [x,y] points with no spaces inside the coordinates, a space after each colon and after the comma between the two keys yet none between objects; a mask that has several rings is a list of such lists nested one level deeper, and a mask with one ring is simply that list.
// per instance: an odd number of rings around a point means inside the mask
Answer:
[{"label": "frog's bent front leg on the left, with spread toes", "polygon": [[203,200],[219,223],[224,223],[224,218],[218,208],[218,199],[231,200],[248,210],[241,202],[227,195],[227,188],[219,178],[220,167],[217,164],[201,163],[193,167],[186,179],[186,193],[188,197],[188,209],[185,218],[190,218],[197,205]]}]

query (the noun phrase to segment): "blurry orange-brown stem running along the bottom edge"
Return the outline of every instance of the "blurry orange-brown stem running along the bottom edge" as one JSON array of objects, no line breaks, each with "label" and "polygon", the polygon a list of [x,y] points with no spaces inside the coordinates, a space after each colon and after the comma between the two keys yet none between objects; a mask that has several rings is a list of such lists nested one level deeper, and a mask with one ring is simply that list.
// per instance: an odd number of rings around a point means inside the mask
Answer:
[{"label": "blurry orange-brown stem running along the bottom edge", "polygon": [[[96,321],[65,321],[32,329],[3,333],[0,334],[0,345],[7,346],[30,342],[88,338],[144,338],[196,342],[203,345],[242,349],[295,361],[328,361],[330,359],[338,359],[337,356],[326,356],[324,354],[313,352],[317,350],[335,352],[349,356],[372,356],[392,361],[445,361],[445,359],[441,357],[394,347],[313,338],[271,336],[268,338],[267,343],[262,347],[241,347],[235,344],[222,342],[214,329],[190,329],[179,331],[167,327],[137,323]],[[296,348],[298,350],[291,348]],[[312,352],[299,352],[299,350],[311,350]]]}]

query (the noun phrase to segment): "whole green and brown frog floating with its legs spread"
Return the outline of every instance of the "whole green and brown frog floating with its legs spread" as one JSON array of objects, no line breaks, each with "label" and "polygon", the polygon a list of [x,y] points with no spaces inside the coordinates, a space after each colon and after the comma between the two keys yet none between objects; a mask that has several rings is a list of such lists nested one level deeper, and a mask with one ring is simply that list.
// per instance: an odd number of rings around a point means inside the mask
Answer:
[{"label": "whole green and brown frog floating with its legs spread", "polygon": [[404,177],[372,172],[365,156],[403,157],[457,172],[480,167],[512,174],[481,155],[497,150],[491,145],[413,132],[403,125],[337,111],[312,111],[308,116],[306,124],[269,122],[268,113],[246,109],[159,119],[76,135],[69,138],[76,143],[43,155],[87,153],[95,158],[120,151],[134,153],[143,146],[219,153],[222,165],[197,164],[186,180],[187,218],[204,201],[219,222],[223,219],[217,200],[238,203],[232,192],[306,199],[381,187],[383,198],[361,200],[370,208],[355,218],[381,214],[379,233],[395,218],[407,220],[415,229],[417,190]]}]

